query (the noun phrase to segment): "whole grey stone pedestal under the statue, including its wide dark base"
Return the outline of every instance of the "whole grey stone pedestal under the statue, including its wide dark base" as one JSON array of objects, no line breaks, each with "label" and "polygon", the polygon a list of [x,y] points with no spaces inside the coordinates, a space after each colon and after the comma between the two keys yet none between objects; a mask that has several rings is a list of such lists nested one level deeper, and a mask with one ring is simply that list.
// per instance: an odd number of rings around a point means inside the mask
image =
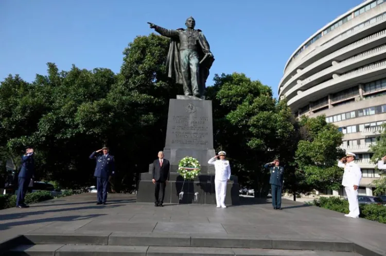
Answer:
[{"label": "whole grey stone pedestal under the statue, including its wide dark base", "polygon": [[[164,203],[216,204],[214,165],[208,160],[216,155],[213,148],[212,101],[178,95],[169,101],[164,157],[170,161],[170,181]],[[194,181],[184,181],[178,164],[185,156],[197,159],[201,174]],[[154,202],[152,165],[142,173],[138,183],[137,202]],[[225,204],[239,204],[237,176],[227,184]]]}]

